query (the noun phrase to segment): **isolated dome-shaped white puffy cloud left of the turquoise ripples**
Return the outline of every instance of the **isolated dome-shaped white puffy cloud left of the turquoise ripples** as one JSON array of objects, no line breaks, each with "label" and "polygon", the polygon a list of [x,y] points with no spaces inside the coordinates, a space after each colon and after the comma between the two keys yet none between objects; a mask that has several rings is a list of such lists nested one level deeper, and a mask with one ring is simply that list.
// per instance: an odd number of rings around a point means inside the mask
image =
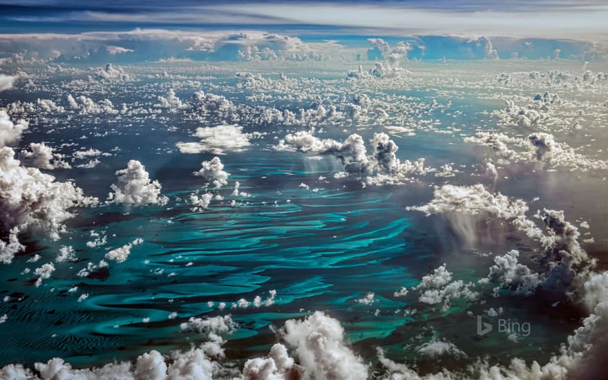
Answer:
[{"label": "isolated dome-shaped white puffy cloud left of the turquoise ripples", "polygon": [[137,160],[129,160],[125,169],[115,172],[117,183],[112,184],[113,192],[108,193],[108,202],[125,205],[166,205],[169,198],[160,191],[158,180],[150,180],[146,167]]}]

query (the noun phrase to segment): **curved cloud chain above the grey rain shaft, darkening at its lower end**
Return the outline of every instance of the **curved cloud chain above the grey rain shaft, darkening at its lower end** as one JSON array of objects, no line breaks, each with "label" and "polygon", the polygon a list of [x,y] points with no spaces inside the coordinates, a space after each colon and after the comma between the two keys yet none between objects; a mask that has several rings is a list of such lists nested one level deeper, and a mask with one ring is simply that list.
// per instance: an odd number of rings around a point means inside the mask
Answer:
[{"label": "curved cloud chain above the grey rain shaft, darkening at its lower end", "polygon": [[[509,200],[500,193],[489,193],[481,184],[462,187],[446,184],[435,189],[433,200],[427,205],[408,207],[427,215],[436,213],[446,216],[462,234],[475,236],[475,225],[459,227],[462,215],[493,217],[510,220],[516,229],[539,240],[542,254],[538,262],[544,273],[535,274],[525,265],[517,263],[519,252],[510,251],[506,256],[495,257],[495,265],[485,281],[509,287],[521,294],[531,294],[538,285],[561,290],[568,289],[576,278],[595,265],[580,246],[578,228],[564,219],[563,211],[547,210],[541,214],[544,230],[526,217],[527,205],[522,200]],[[441,269],[441,268],[440,268]],[[439,300],[440,292],[430,292],[429,301]]]}]

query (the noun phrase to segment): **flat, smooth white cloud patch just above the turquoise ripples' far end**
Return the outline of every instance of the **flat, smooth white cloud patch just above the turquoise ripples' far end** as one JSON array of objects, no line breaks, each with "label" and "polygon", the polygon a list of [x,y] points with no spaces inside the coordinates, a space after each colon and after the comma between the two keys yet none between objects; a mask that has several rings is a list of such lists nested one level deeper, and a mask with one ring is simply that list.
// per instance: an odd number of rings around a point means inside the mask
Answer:
[{"label": "flat, smooth white cloud patch just above the turquoise ripples' far end", "polygon": [[178,142],[176,144],[182,153],[213,153],[225,154],[225,151],[243,151],[251,145],[251,134],[243,133],[243,127],[238,125],[219,125],[200,127],[194,137],[200,142]]}]

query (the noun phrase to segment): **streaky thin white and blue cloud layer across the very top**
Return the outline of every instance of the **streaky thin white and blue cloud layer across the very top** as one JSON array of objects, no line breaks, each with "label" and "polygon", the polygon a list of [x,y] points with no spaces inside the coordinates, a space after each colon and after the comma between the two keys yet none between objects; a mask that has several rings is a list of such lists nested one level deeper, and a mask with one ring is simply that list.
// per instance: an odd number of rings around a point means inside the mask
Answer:
[{"label": "streaky thin white and blue cloud layer across the very top", "polygon": [[[0,1],[0,4],[5,3]],[[12,4],[14,6],[14,3]],[[20,23],[117,23],[122,26],[291,26],[384,32],[392,35],[489,35],[607,41],[608,4],[598,1],[439,1],[424,3],[244,2],[200,3],[110,1],[87,7],[74,1],[26,1],[5,8],[3,18]],[[45,12],[41,12],[44,8]],[[21,26],[23,28],[24,26]],[[19,23],[13,28],[20,28]],[[17,30],[15,30],[17,31]]]}]

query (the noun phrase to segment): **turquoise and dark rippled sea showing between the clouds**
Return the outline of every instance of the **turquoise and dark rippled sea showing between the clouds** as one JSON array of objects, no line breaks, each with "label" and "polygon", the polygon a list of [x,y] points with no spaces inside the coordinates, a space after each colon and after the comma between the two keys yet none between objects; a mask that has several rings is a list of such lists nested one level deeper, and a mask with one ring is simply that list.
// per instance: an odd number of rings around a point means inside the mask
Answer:
[{"label": "turquoise and dark rippled sea showing between the clouds", "polygon": [[[228,79],[218,82],[222,80]],[[129,93],[145,93],[138,87],[144,84],[132,84]],[[191,89],[181,92],[186,97]],[[431,88],[403,94],[419,102],[441,101],[441,94]],[[6,96],[19,98],[15,93]],[[115,95],[117,104],[127,96]],[[417,117],[437,118],[438,129],[459,126],[471,132],[488,122],[488,115],[481,111],[502,104],[467,95],[454,100],[454,106],[462,112],[455,117],[438,111]],[[59,146],[93,131],[119,131],[81,142],[105,152],[120,148],[115,155],[102,158],[98,167],[60,170],[54,175],[59,180],[73,178],[85,193],[104,199],[115,180],[114,171],[127,160],[137,159],[146,165],[151,178],[162,183],[162,192],[170,200],[167,207],[102,205],[82,209],[68,223],[68,233],[61,240],[30,236],[28,250],[12,265],[0,266],[0,276],[6,279],[0,295],[10,296],[10,301],[0,303],[0,314],[10,316],[0,326],[4,342],[0,345],[0,365],[63,357],[76,366],[89,366],[113,359],[132,360],[152,348],[166,353],[196,341],[196,336],[182,333],[178,327],[191,316],[231,314],[239,328],[230,336],[227,354],[245,359],[265,354],[276,342],[270,326],[281,327],[287,319],[324,310],[343,323],[349,341],[365,358],[371,360],[374,347],[381,346],[396,359],[421,360],[422,368],[433,367],[433,363],[418,358],[408,348],[434,334],[465,350],[467,360],[487,354],[498,361],[513,356],[542,360],[578,324],[578,310],[560,309],[560,317],[547,313],[561,295],[525,299],[506,295],[497,300],[488,288],[482,289],[486,303],[455,301],[443,312],[417,303],[412,295],[395,298],[393,292],[417,285],[422,276],[442,263],[448,263],[455,279],[477,281],[487,275],[492,263],[491,256],[479,256],[479,252],[530,250],[531,242],[504,226],[491,225],[488,235],[493,238],[478,242],[476,247],[464,247],[443,218],[406,211],[406,206],[428,202],[433,191],[430,185],[446,179],[426,177],[412,184],[363,188],[354,178],[332,178],[341,170],[334,158],[313,161],[301,153],[272,150],[275,136],[303,128],[245,126],[247,132],[268,131],[269,135],[252,140],[246,151],[220,156],[231,175],[229,184],[214,192],[225,199],[213,200],[207,210],[192,211],[186,200],[192,191],[201,189],[202,180],[191,173],[213,155],[176,151],[176,142],[193,140],[191,132],[198,124],[176,115],[166,117],[129,126],[110,123],[104,117],[97,124],[86,118],[75,122],[60,117],[52,132],[37,124],[24,135],[22,146],[39,140]],[[177,130],[168,131],[167,126]],[[323,137],[343,139],[348,135],[331,126],[327,130]],[[365,126],[356,131],[368,139],[383,129]],[[468,173],[479,161],[480,149],[464,144],[457,134],[416,131],[415,136],[393,138],[400,146],[401,160],[424,157],[429,166],[453,162],[462,172],[449,182],[489,183],[487,178]],[[64,151],[68,153],[67,148]],[[319,180],[320,176],[327,180]],[[499,184],[500,191],[526,200],[542,194],[539,208],[554,205],[562,197],[563,188],[555,189],[548,183],[576,187],[576,182],[564,180],[567,173],[539,172],[530,178],[514,172],[509,176]],[[583,191],[590,196],[602,189],[599,178],[590,175],[584,180],[589,186]],[[231,196],[234,181],[250,196]],[[298,187],[302,182],[310,189]],[[546,187],[539,189],[539,183]],[[237,204],[231,205],[232,200]],[[572,208],[593,212],[585,206]],[[86,242],[93,240],[91,231],[106,236],[107,245],[86,247]],[[88,276],[77,276],[89,262],[99,263],[108,249],[135,238],[144,243],[135,245],[124,263],[111,262]],[[73,246],[78,259],[57,263],[52,278],[41,287],[32,286],[35,277],[23,269],[35,269],[53,260],[61,245]],[[33,254],[41,255],[41,260],[27,263]],[[75,286],[76,292],[68,292]],[[240,298],[253,301],[260,296],[265,300],[270,290],[276,290],[274,305],[231,308]],[[368,292],[374,292],[374,303],[356,302]],[[78,302],[81,294],[88,294],[88,298]],[[227,305],[224,310],[218,307],[220,303]],[[478,339],[474,321],[466,312],[480,314],[489,307],[504,307],[510,318],[531,321],[531,336],[519,343],[508,342],[500,334]],[[417,313],[406,316],[407,308],[415,308]],[[169,319],[174,312],[175,319]]]}]

